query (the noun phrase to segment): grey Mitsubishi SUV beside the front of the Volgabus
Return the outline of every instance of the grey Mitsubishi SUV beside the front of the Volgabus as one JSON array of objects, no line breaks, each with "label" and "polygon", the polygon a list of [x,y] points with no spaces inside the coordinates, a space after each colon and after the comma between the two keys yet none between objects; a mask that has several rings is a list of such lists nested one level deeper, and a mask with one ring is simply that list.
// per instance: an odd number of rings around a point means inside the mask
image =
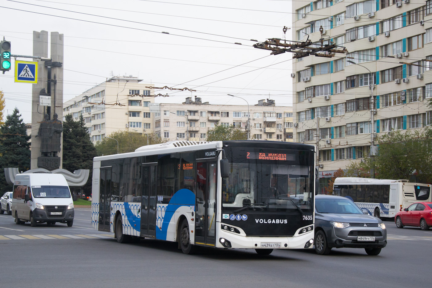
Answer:
[{"label": "grey Mitsubishi SUV beside the front of the Volgabus", "polygon": [[378,255],[387,245],[384,223],[365,215],[350,199],[333,195],[315,196],[315,251],[327,255],[331,248],[364,248]]}]

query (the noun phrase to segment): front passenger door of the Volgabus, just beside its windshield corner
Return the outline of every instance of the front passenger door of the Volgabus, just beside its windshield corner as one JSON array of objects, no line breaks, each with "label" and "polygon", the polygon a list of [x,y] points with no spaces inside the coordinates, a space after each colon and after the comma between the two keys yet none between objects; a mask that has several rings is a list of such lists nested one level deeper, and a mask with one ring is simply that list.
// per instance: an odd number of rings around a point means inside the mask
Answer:
[{"label": "front passenger door of the Volgabus, just beside its windshield corner", "polygon": [[195,243],[215,245],[216,239],[216,161],[197,162]]}]

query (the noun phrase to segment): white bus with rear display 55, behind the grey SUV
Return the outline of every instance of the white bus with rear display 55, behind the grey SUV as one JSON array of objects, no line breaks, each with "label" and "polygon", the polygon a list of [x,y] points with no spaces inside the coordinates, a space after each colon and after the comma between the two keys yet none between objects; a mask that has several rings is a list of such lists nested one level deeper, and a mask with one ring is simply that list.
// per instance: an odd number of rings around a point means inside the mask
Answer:
[{"label": "white bus with rear display 55, behind the grey SUV", "polygon": [[351,198],[375,217],[393,218],[414,202],[431,201],[431,185],[408,180],[338,177],[333,194]]}]

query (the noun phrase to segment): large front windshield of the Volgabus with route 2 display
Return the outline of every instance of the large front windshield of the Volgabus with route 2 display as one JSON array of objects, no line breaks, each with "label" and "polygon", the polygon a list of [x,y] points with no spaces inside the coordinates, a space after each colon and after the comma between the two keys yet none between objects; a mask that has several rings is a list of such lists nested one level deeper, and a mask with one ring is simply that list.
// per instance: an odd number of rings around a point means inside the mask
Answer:
[{"label": "large front windshield of the Volgabus with route 2 display", "polygon": [[312,211],[311,152],[227,150],[231,173],[222,180],[223,210]]}]

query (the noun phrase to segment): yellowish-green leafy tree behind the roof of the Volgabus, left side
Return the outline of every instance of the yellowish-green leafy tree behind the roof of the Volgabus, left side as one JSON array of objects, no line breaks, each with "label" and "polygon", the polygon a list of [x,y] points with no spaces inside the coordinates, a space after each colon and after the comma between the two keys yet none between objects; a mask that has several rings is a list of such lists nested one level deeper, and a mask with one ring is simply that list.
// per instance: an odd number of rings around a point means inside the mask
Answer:
[{"label": "yellowish-green leafy tree behind the roof of the Volgabus, left side", "polygon": [[[147,145],[147,137],[149,145],[165,143],[166,140],[156,136],[155,133],[151,134],[141,134],[136,132],[128,132],[128,131],[115,131],[108,135],[110,138],[114,138],[118,141],[118,153],[128,153],[133,152],[135,149],[146,146]],[[102,155],[111,155],[117,153],[117,141],[104,138],[102,141],[99,141],[96,144],[96,150],[98,152],[98,156]]]}]

